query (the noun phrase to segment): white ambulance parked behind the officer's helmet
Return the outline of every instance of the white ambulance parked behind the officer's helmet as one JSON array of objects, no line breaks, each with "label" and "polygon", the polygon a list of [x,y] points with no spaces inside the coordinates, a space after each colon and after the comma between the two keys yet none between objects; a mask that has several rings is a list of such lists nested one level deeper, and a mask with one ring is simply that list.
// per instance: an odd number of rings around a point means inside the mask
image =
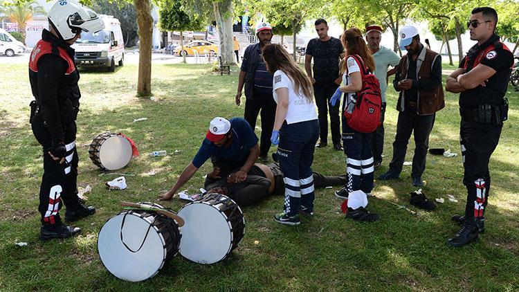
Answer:
[{"label": "white ambulance parked behind the officer's helmet", "polygon": [[73,48],[75,64],[80,67],[105,67],[110,72],[116,70],[116,64],[125,63],[125,41],[122,39],[119,19],[111,15],[100,15],[104,21],[104,30],[98,33],[81,33]]}]

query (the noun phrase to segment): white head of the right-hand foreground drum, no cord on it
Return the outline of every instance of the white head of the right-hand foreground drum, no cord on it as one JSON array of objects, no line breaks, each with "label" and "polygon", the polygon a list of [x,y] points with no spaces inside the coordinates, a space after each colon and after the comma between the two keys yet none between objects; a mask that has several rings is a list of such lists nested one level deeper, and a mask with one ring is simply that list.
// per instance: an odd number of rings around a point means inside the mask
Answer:
[{"label": "white head of the right-hand foreground drum, no cord on it", "polygon": [[230,225],[224,213],[206,203],[190,203],[179,210],[185,221],[179,253],[192,262],[214,264],[232,247]]}]

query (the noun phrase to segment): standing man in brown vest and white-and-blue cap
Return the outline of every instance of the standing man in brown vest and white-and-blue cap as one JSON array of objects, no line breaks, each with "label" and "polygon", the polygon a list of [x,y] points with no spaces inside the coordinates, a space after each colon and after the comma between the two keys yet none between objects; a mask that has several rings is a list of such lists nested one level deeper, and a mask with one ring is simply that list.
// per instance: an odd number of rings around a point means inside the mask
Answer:
[{"label": "standing man in brown vest and white-and-blue cap", "polygon": [[[394,77],[393,86],[399,91],[397,110],[397,136],[393,143],[393,158],[388,172],[380,180],[398,179],[406,158],[411,133],[415,136],[415,156],[412,158],[412,185],[424,185],[421,175],[426,169],[429,134],[435,123],[435,113],[445,107],[441,85],[441,56],[428,50],[420,42],[415,26],[400,30],[400,47],[408,51],[402,57]],[[411,197],[411,204],[426,210],[435,208],[424,194]]]}]

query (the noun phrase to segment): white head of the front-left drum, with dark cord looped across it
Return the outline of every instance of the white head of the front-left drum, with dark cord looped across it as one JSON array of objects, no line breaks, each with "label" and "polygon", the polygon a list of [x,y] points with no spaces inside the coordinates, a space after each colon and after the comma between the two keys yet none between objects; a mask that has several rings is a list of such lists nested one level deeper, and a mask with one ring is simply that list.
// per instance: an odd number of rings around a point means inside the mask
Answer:
[{"label": "white head of the front-left drum, with dark cord looped across it", "polygon": [[[149,229],[143,247],[132,253],[120,239],[124,214],[112,217],[104,223],[98,237],[98,251],[101,262],[107,270],[121,280],[138,282],[153,277],[165,261],[165,250],[161,235],[152,227]],[[122,227],[122,239],[131,250],[138,250],[150,223],[138,214],[126,216]]]}]

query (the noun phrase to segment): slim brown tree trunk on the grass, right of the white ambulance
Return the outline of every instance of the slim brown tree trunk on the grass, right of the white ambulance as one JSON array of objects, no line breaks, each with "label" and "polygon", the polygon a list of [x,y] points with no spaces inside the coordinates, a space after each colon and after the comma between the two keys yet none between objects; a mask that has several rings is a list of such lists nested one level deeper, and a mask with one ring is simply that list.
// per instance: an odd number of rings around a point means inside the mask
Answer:
[{"label": "slim brown tree trunk on the grass, right of the white ambulance", "polygon": [[134,0],[134,5],[140,39],[137,94],[149,96],[152,95],[152,3],[150,0]]}]

